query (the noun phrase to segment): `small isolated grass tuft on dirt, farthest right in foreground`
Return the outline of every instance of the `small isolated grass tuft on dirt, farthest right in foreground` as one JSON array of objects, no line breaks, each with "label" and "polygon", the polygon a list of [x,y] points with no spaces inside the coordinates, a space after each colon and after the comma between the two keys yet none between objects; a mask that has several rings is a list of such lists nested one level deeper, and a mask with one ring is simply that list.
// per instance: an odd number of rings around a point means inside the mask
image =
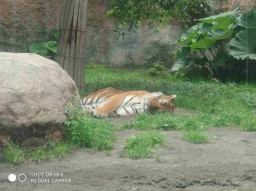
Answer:
[{"label": "small isolated grass tuft on dirt, farthest right in foreground", "polygon": [[192,143],[207,143],[209,141],[207,134],[200,131],[188,131],[183,134],[182,139]]}]

